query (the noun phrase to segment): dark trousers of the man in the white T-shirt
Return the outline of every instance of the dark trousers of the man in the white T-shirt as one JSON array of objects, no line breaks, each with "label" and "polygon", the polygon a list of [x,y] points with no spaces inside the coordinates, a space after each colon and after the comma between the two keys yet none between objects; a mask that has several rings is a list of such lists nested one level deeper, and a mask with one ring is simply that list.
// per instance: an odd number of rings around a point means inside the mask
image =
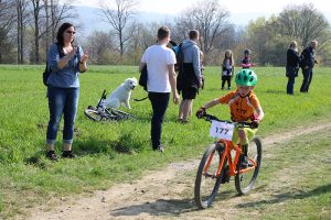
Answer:
[{"label": "dark trousers of the man in the white T-shirt", "polygon": [[162,123],[169,105],[170,94],[148,92],[148,98],[152,105],[153,110],[150,130],[152,148],[157,150],[161,144]]}]

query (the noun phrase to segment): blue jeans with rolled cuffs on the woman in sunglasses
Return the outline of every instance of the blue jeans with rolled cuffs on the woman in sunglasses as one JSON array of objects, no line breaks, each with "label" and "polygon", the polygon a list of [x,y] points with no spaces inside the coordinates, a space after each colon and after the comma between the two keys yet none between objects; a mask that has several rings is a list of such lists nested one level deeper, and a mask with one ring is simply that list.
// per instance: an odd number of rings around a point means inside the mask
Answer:
[{"label": "blue jeans with rolled cuffs on the woman in sunglasses", "polygon": [[47,97],[50,121],[47,127],[46,143],[54,144],[62,114],[64,118],[63,143],[73,143],[79,88],[49,87]]}]

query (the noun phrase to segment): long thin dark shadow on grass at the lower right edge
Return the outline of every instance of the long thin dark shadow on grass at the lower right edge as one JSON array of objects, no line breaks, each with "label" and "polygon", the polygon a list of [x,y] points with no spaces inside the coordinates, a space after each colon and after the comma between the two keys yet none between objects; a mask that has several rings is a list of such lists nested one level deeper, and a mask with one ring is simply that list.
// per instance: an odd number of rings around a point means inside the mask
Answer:
[{"label": "long thin dark shadow on grass at the lower right edge", "polygon": [[288,191],[284,194],[278,194],[274,195],[274,198],[271,199],[264,199],[260,201],[252,201],[252,202],[246,202],[246,204],[241,204],[237,205],[237,208],[254,208],[254,207],[259,207],[261,205],[274,205],[274,204],[279,204],[284,202],[286,200],[290,199],[305,199],[311,196],[319,196],[321,194],[330,193],[331,191],[331,184],[324,185],[317,187],[316,189],[309,190],[309,191]]}]

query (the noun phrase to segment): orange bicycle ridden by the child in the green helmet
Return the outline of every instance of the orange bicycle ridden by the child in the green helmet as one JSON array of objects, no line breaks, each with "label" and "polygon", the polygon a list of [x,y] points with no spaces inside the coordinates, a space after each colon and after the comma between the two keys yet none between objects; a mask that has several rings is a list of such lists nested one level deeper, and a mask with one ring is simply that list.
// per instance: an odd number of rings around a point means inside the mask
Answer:
[{"label": "orange bicycle ridden by the child in the green helmet", "polygon": [[[220,120],[211,114],[205,114],[203,118],[211,122],[234,123]],[[250,123],[247,122],[235,122],[235,125],[250,128]],[[226,129],[221,130],[217,132],[227,132]],[[238,164],[241,154],[243,154],[241,145],[234,145],[232,141],[225,139],[217,139],[214,144],[206,148],[197,168],[194,186],[194,200],[199,208],[211,207],[221,185],[228,183],[232,176],[235,177],[235,188],[239,195],[246,195],[250,191],[261,164],[259,138],[255,136],[249,143],[249,163],[246,168],[241,168]]]}]

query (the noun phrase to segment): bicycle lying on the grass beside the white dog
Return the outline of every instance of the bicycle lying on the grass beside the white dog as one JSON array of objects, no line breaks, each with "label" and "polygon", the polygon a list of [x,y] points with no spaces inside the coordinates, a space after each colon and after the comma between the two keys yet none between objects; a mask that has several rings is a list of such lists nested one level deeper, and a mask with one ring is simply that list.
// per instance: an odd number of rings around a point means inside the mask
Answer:
[{"label": "bicycle lying on the grass beside the white dog", "polygon": [[96,107],[88,106],[87,109],[84,110],[84,114],[93,120],[99,122],[116,122],[124,121],[129,119],[135,119],[132,114],[129,114],[125,111],[114,109],[114,108],[105,108],[106,101],[106,90],[104,90],[102,98]]}]

